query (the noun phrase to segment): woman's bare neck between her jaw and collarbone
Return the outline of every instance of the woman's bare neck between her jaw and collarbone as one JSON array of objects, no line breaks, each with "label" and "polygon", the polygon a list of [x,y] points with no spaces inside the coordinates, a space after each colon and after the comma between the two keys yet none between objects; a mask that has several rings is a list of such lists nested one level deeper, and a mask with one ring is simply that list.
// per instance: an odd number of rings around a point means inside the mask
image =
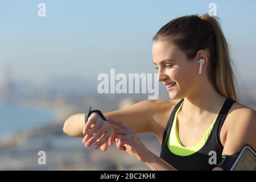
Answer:
[{"label": "woman's bare neck between her jaw and collarbone", "polygon": [[188,115],[200,117],[207,113],[217,114],[225,100],[226,97],[221,96],[212,84],[208,83],[203,87],[200,86],[200,90],[191,96],[185,97],[182,107]]}]

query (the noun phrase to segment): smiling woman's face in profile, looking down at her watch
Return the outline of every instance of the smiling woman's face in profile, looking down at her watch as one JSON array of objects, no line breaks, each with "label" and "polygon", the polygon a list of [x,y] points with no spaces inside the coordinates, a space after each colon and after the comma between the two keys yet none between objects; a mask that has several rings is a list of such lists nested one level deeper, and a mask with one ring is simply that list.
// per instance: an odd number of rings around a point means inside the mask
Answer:
[{"label": "smiling woman's face in profile, looking down at her watch", "polygon": [[[200,86],[196,81],[198,62],[196,59],[188,60],[179,47],[158,40],[153,43],[152,56],[158,68],[158,81],[166,86],[171,99],[184,98]],[[168,89],[173,82],[176,85]]]}]

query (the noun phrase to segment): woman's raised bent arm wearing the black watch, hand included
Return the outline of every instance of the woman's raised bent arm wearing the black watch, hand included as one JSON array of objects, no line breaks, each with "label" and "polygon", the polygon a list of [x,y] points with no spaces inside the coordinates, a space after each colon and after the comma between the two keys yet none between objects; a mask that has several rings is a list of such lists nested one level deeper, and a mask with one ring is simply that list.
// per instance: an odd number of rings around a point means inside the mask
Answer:
[{"label": "woman's raised bent arm wearing the black watch, hand included", "polygon": [[[146,100],[131,105],[126,109],[103,114],[107,119],[122,121],[137,134],[153,133],[159,142],[161,142],[163,130],[166,127],[166,122],[168,121],[168,117],[170,117],[170,110],[174,106],[174,103],[171,100]],[[101,150],[105,151],[108,147],[106,142],[114,135],[113,129],[117,126],[104,121],[97,113],[92,113],[85,125],[84,117],[84,113],[69,117],[63,127],[64,133],[71,137],[84,137],[82,142],[86,147],[94,144],[94,147],[98,148],[100,146]],[[89,130],[90,126],[92,129]],[[109,144],[112,144],[112,142],[113,138],[109,140]]]}]

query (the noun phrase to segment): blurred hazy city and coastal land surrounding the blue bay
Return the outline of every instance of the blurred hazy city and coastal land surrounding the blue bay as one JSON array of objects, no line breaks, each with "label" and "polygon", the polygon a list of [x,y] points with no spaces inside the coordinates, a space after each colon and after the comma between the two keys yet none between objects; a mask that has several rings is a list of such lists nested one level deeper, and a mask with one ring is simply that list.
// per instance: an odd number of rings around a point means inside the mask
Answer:
[{"label": "blurred hazy city and coastal land surrounding the blue bay", "polygon": [[[255,85],[247,84],[246,89],[240,86],[241,103],[254,110]],[[0,138],[0,170],[149,170],[146,164],[115,146],[110,146],[106,152],[93,150],[84,147],[82,138],[71,138],[63,133],[65,119],[72,114],[84,113],[88,105],[107,112],[147,100],[146,94],[98,94],[94,92],[96,85],[68,78],[50,80],[48,86],[39,88],[30,82],[17,81],[11,67],[3,73],[0,88],[2,105],[48,108],[58,116],[56,121],[41,127],[14,131]],[[169,99],[164,89],[159,95],[159,99]],[[5,121],[1,123],[1,127],[5,127]],[[160,144],[154,135],[139,136],[151,151],[159,155]],[[46,165],[38,164],[38,152],[41,150],[46,151]]]}]

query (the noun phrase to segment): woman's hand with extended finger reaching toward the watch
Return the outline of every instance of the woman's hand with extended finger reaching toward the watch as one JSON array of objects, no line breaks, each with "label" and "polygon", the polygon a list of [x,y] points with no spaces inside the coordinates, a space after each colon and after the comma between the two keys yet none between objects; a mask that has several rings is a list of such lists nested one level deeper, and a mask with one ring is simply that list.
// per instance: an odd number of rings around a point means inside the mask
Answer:
[{"label": "woman's hand with extended finger reaching toward the watch", "polygon": [[[147,162],[151,158],[151,151],[139,139],[134,130],[127,127],[121,121],[109,120],[109,123],[119,126],[120,128],[114,129],[112,137],[109,139],[109,145],[114,142],[117,144],[119,150],[126,151],[131,156],[139,159],[142,162]],[[119,135],[119,136],[117,136]]]}]

